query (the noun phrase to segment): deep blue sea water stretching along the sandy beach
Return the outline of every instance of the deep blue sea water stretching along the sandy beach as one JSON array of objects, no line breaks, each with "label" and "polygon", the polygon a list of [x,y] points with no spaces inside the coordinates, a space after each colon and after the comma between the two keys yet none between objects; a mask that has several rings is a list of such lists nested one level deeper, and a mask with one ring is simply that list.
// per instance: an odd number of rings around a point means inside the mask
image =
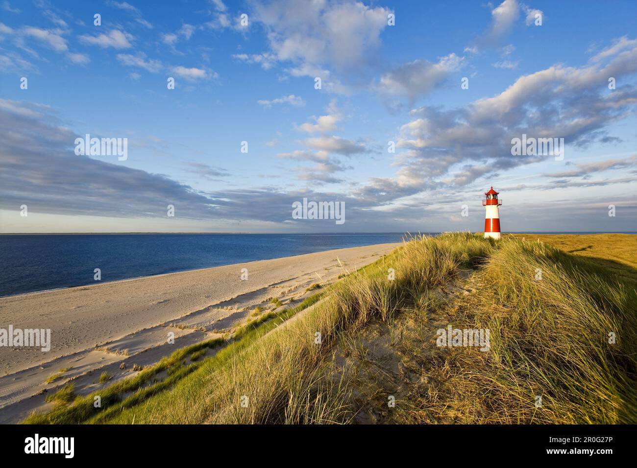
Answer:
[{"label": "deep blue sea water stretching along the sandy beach", "polygon": [[400,242],[403,234],[6,234],[0,296]]}]

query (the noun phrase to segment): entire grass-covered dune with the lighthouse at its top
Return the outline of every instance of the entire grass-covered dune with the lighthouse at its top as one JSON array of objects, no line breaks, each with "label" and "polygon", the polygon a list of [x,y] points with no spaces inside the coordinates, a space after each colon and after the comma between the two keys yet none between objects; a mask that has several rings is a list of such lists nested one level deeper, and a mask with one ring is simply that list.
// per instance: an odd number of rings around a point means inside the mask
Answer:
[{"label": "entire grass-covered dune with the lighthouse at its top", "polygon": [[[178,350],[95,394],[66,388],[25,422],[635,423],[636,268],[624,234],[415,238],[196,345],[211,357]],[[489,350],[437,346],[448,325],[489,330]]]}]

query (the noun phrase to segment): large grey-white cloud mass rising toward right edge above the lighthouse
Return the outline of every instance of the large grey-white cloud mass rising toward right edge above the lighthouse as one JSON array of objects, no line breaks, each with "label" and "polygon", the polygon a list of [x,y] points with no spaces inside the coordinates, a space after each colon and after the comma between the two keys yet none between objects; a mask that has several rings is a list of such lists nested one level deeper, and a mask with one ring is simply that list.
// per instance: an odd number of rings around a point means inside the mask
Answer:
[{"label": "large grey-white cloud mass rising toward right edge above the lighthouse", "polygon": [[[402,193],[406,187],[417,190],[451,173],[445,183],[464,185],[488,174],[489,167],[503,171],[545,159],[512,157],[511,140],[522,134],[564,138],[567,147],[617,141],[607,132],[637,106],[637,89],[626,85],[607,95],[599,83],[606,83],[608,76],[636,72],[634,46],[616,53],[606,66],[559,64],[520,76],[497,96],[459,109],[414,110],[410,115],[415,118],[401,127],[396,144],[404,149],[396,157],[401,169],[387,183],[395,183],[394,192]],[[373,187],[369,190],[375,192]]]}]

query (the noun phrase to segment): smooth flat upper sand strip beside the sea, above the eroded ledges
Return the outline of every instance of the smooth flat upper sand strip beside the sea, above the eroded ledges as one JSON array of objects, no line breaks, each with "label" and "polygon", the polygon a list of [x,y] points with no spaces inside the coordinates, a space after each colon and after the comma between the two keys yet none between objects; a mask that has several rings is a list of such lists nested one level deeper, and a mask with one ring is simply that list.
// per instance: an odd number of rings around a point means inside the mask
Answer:
[{"label": "smooth flat upper sand strip beside the sea, above the eroded ledges", "polygon": [[[272,294],[273,288],[281,283],[289,286],[312,278],[316,282],[333,280],[342,273],[337,257],[347,269],[354,269],[373,262],[397,245],[330,250],[2,297],[0,328],[11,324],[14,329],[50,329],[52,346],[48,352],[1,346],[1,370],[6,375],[29,369],[198,311],[223,318],[229,315],[228,309],[236,312],[237,307],[251,306],[251,298],[256,304],[264,295],[278,296]],[[240,280],[242,268],[248,269],[247,281]],[[234,298],[238,299],[233,301]]]}]

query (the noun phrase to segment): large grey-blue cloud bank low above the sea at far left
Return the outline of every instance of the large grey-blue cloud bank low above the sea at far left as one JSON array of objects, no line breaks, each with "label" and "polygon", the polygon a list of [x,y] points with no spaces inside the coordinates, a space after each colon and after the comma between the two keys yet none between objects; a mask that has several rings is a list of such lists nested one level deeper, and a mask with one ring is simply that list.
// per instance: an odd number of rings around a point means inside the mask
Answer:
[{"label": "large grey-blue cloud bank low above the sea at far left", "polygon": [[[216,216],[215,209],[208,205],[210,198],[181,182],[106,160],[76,156],[72,143],[78,135],[61,125],[57,111],[49,106],[0,99],[0,128],[3,209],[21,199],[29,206],[39,206],[41,213],[122,216],[128,212],[131,216],[148,216],[154,210],[152,206],[157,207],[157,200],[165,199],[182,206],[182,216]],[[113,197],[118,197],[118,206],[113,204]],[[155,209],[160,215],[161,211]]]}]

